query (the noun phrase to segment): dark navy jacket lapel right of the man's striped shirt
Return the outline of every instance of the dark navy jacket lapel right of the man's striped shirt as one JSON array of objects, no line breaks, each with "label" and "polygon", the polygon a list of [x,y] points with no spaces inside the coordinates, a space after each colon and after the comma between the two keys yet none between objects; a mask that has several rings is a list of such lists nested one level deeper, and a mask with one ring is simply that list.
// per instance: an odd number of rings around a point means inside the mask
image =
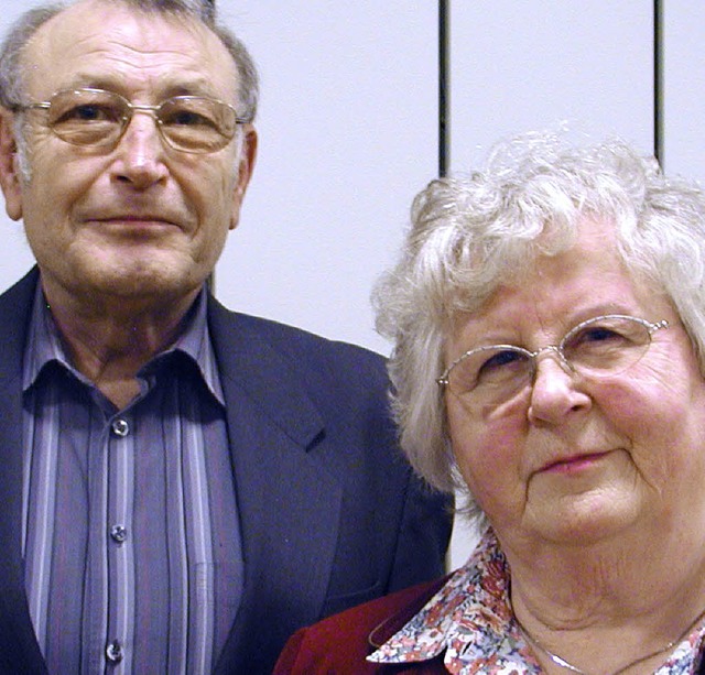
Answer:
[{"label": "dark navy jacket lapel right of the man's striped shirt", "polygon": [[295,363],[251,320],[212,302],[245,557],[243,595],[223,672],[252,668],[251,654],[271,643],[273,632],[283,643],[318,618],[343,499],[337,479],[307,453],[324,428]]}]

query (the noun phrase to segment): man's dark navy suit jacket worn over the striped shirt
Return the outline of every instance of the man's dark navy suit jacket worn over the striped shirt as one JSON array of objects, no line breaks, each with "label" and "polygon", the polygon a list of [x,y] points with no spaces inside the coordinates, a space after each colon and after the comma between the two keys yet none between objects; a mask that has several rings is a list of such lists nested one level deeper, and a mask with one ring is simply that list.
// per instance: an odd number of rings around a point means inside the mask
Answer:
[{"label": "man's dark navy suit jacket worn over the striped shirt", "polygon": [[[0,295],[0,673],[45,673],[20,551],[22,352],[37,272]],[[269,673],[302,625],[442,574],[447,502],[395,449],[380,357],[209,301],[245,588],[216,673]],[[77,647],[78,649],[78,647]]]}]

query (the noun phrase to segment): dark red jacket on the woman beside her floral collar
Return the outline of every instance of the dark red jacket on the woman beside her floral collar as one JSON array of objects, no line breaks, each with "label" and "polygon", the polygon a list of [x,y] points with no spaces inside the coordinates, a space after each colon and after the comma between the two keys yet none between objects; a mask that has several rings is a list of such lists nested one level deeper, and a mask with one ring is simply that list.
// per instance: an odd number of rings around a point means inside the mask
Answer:
[{"label": "dark red jacket on the woman beside her floral collar", "polygon": [[412,586],[302,628],[286,643],[274,675],[447,674],[443,655],[399,665],[365,660],[406,624],[446,580]]}]

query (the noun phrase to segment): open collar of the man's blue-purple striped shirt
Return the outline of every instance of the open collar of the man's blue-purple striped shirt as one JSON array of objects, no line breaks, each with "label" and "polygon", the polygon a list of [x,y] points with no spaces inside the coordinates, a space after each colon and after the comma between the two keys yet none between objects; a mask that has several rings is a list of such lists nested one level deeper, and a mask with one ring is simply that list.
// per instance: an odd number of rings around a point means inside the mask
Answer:
[{"label": "open collar of the man's blue-purple striped shirt", "polygon": [[[208,292],[204,286],[188,311],[184,329],[176,342],[156,355],[140,370],[138,375],[156,368],[161,361],[169,358],[169,355],[185,355],[198,368],[200,377],[210,393],[221,405],[225,405],[225,396],[223,394],[218,368],[208,331],[207,306]],[[28,341],[24,349],[22,390],[26,391],[32,387],[42,370],[52,362],[63,366],[82,382],[91,384],[72,364],[50,307],[44,298],[42,285],[37,283],[32,305]]]}]

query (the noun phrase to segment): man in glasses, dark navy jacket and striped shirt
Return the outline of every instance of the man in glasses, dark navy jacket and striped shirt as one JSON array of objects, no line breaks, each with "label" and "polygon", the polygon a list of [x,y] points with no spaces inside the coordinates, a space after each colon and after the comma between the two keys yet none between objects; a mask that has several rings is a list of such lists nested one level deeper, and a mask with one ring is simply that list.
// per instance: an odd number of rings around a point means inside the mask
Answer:
[{"label": "man in glasses, dark navy jacket and striped shirt", "polygon": [[257,77],[212,8],[78,0],[0,54],[0,184],[36,269],[0,296],[0,667],[267,673],[296,628],[436,576],[445,502],[382,360],[205,282]]}]

